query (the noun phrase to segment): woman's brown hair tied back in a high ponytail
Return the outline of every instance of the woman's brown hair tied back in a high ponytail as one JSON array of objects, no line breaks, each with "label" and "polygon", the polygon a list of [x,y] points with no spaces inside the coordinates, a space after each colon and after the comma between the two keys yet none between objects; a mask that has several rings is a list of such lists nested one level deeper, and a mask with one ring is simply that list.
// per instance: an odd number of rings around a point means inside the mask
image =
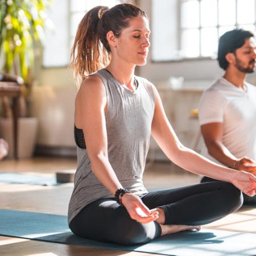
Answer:
[{"label": "woman's brown hair tied back in a high ponytail", "polygon": [[89,10],[82,18],[76,32],[71,50],[71,67],[77,81],[90,73],[106,67],[111,59],[111,49],[106,39],[109,31],[118,38],[124,28],[129,26],[131,18],[147,15],[135,5],[121,3],[111,9],[97,6]]}]

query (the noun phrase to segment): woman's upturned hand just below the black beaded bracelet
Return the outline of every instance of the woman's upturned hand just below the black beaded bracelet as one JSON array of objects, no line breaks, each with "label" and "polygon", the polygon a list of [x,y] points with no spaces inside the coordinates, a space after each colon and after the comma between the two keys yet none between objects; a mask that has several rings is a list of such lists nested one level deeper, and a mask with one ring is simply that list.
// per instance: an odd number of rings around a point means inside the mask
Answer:
[{"label": "woman's upturned hand just below the black beaded bracelet", "polygon": [[122,204],[130,217],[135,221],[146,224],[158,219],[159,212],[151,212],[150,209],[143,204],[142,200],[132,193],[125,193],[122,196]]}]

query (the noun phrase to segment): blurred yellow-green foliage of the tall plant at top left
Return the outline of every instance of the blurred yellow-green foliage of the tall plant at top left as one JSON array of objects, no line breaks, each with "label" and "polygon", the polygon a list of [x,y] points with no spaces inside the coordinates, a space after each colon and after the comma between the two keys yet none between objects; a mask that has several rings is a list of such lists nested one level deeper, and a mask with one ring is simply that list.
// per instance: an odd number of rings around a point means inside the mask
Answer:
[{"label": "blurred yellow-green foliage of the tall plant at top left", "polygon": [[[34,67],[34,42],[44,40],[44,23],[47,17],[40,15],[51,0],[13,0],[8,6],[6,0],[0,0],[0,55],[3,54],[3,67],[7,72],[15,70],[26,82],[28,69]],[[6,23],[6,15],[10,17]],[[9,23],[9,24],[8,24]],[[20,41],[19,41],[20,40]],[[20,44],[21,42],[21,44]]]}]

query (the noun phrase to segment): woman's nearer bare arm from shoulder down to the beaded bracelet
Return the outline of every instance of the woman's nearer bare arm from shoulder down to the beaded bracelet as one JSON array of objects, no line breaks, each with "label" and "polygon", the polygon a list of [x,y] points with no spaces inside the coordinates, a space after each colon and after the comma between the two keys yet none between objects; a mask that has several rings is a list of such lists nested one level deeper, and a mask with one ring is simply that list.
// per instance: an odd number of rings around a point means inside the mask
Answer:
[{"label": "woman's nearer bare arm from shoulder down to the beaded bracelet", "polygon": [[106,104],[106,91],[100,77],[90,76],[82,82],[76,96],[75,123],[77,128],[84,131],[86,149],[94,174],[114,195],[122,185],[108,160]]}]

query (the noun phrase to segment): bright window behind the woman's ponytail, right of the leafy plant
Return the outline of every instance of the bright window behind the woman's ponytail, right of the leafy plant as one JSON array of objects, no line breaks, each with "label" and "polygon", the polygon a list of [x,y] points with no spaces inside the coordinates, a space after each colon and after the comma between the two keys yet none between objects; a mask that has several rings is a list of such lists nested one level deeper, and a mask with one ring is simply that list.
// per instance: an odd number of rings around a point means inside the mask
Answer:
[{"label": "bright window behind the woman's ponytail, right of the leafy plant", "polygon": [[95,6],[112,7],[118,0],[53,0],[49,18],[53,21],[54,30],[46,28],[43,66],[65,67],[69,63],[69,55],[75,39],[77,26],[86,11]]}]

